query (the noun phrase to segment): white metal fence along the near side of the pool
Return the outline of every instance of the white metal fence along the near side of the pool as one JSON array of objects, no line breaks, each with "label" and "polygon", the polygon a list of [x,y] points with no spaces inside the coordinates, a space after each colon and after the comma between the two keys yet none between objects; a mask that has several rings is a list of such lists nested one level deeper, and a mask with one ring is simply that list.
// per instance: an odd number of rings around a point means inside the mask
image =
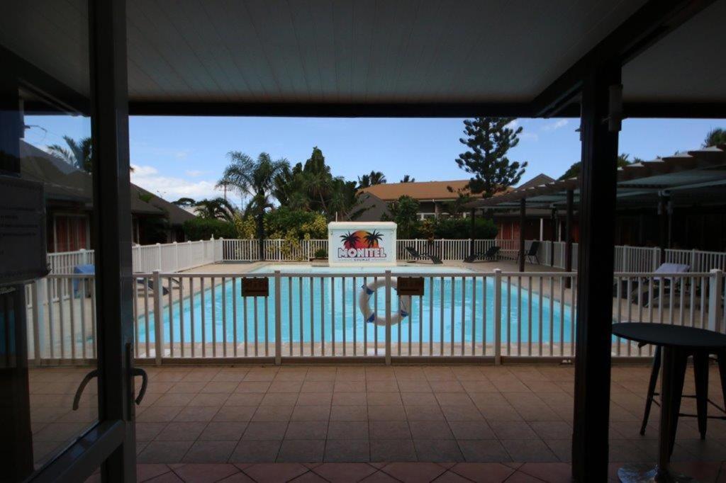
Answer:
[{"label": "white metal fence along the near side of the pool", "polygon": [[[163,363],[575,355],[576,273],[251,275],[268,278],[269,297],[242,297],[239,273],[136,274],[136,357]],[[385,283],[416,275],[425,281],[421,297],[398,297]],[[56,274],[28,286],[28,344],[36,363],[95,357],[93,282],[92,275]],[[377,282],[381,287],[372,289]],[[612,290],[613,322],[725,331],[721,271],[616,273]],[[647,347],[613,339],[614,357],[647,355]]]}]

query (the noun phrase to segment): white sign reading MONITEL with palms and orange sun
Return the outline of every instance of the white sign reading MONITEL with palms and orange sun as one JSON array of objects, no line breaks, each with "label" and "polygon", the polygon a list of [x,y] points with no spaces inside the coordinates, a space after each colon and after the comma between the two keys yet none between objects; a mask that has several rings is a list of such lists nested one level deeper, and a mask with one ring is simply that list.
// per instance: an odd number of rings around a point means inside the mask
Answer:
[{"label": "white sign reading MONITEL with palms and orange sun", "polygon": [[329,223],[327,242],[331,266],[396,265],[396,223]]}]

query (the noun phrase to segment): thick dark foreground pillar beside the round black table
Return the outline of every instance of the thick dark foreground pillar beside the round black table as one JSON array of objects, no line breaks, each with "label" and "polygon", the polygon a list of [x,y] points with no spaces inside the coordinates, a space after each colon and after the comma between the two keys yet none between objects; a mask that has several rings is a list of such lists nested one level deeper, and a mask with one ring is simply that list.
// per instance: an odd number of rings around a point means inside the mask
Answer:
[{"label": "thick dark foreground pillar beside the round black table", "polygon": [[[582,87],[582,175],[577,263],[572,473],[577,482],[608,479],[608,419],[613,294],[613,227],[619,126],[611,128],[611,86],[619,65],[593,66]],[[613,103],[615,104],[615,103]]]}]

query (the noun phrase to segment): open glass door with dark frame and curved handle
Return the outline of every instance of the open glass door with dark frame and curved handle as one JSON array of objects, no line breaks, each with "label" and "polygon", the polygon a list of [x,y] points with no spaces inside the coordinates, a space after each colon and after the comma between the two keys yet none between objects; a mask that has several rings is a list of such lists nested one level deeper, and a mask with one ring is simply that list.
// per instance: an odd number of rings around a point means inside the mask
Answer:
[{"label": "open glass door with dark frame and curved handle", "polygon": [[[136,477],[125,17],[123,0],[0,15],[3,482]],[[68,212],[89,249],[46,254]]]}]

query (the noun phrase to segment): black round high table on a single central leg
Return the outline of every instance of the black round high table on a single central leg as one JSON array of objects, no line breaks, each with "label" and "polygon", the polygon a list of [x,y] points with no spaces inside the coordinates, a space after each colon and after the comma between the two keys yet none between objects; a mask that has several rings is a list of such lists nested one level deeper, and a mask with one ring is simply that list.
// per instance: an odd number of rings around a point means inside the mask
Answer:
[{"label": "black round high table on a single central leg", "polygon": [[646,471],[620,468],[618,476],[623,482],[690,481],[685,476],[671,474],[668,468],[678,425],[686,362],[693,356],[694,360],[705,360],[707,367],[710,354],[726,350],[726,335],[695,327],[634,322],[613,323],[613,335],[661,347],[663,358],[658,465]]}]

